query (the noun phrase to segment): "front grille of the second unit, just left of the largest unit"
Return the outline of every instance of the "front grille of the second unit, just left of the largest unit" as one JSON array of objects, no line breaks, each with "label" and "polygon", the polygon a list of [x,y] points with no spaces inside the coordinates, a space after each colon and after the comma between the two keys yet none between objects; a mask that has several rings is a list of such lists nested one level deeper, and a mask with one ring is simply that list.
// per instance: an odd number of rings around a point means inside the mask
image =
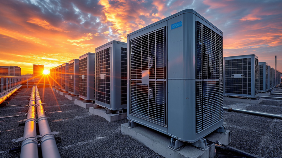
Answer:
[{"label": "front grille of the second unit, just left of the largest unit", "polygon": [[111,48],[96,52],[96,100],[111,104]]}]

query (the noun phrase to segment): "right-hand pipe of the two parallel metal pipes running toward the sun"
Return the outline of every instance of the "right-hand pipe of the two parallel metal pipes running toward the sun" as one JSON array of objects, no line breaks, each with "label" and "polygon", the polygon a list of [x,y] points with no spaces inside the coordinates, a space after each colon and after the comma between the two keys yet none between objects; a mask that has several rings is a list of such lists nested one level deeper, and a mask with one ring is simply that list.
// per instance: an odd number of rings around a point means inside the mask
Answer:
[{"label": "right-hand pipe of the two parallel metal pipes running toward the sun", "polygon": [[39,134],[42,136],[40,140],[42,157],[43,158],[60,158],[60,153],[56,144],[54,135],[51,134],[51,129],[46,118],[44,108],[39,96],[37,86],[35,86],[35,99],[37,108],[37,118]]}]

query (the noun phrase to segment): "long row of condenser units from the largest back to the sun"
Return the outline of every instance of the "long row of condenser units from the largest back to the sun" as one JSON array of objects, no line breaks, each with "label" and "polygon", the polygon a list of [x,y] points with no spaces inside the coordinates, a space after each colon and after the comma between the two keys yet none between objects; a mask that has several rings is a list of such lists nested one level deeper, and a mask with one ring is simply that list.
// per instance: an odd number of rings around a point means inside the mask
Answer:
[{"label": "long row of condenser units from the largest back to the sun", "polygon": [[53,86],[111,110],[127,108],[130,121],[181,141],[196,142],[223,125],[222,31],[192,9],[50,73]]}]

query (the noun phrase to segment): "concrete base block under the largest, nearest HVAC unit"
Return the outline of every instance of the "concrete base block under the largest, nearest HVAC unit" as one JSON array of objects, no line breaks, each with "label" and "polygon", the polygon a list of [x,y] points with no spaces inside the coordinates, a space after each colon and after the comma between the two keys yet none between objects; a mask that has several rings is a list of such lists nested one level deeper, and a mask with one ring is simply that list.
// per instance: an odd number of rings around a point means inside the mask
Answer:
[{"label": "concrete base block under the largest, nearest HVAC unit", "polygon": [[[215,144],[209,145],[209,148],[206,151],[191,145],[186,145],[180,151],[174,151],[168,147],[170,144],[170,136],[142,125],[135,128],[128,128],[127,125],[128,123],[121,125],[122,134],[129,135],[166,158],[214,158],[216,156],[216,153],[214,152]],[[220,143],[224,142],[227,145],[230,143],[230,131],[227,130],[227,134],[213,132],[205,138],[210,141],[218,140]]]}]

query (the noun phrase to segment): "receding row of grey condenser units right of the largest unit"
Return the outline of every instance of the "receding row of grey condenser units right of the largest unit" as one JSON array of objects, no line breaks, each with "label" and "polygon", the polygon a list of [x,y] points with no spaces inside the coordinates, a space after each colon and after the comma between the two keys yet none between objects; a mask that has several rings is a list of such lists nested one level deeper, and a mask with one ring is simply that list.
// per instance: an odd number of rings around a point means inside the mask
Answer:
[{"label": "receding row of grey condenser units right of the largest unit", "polygon": [[[224,95],[257,97],[281,83],[281,74],[258,56],[239,55],[224,57]],[[276,73],[275,73],[276,72]]]}]

